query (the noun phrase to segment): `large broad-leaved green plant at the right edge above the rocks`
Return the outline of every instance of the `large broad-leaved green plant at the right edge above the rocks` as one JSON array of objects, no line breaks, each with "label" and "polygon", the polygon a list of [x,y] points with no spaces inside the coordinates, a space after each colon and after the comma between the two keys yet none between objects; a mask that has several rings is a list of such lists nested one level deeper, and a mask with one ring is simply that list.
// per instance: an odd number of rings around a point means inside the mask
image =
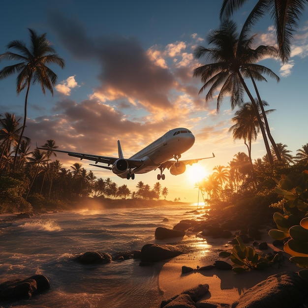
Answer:
[{"label": "large broad-leaved green plant at the right edge above the rocks", "polygon": [[287,240],[283,250],[290,254],[290,261],[303,268],[302,278],[308,279],[308,170],[299,174],[283,176],[276,192],[283,196],[283,214],[273,218],[277,229],[269,231],[276,240]]}]

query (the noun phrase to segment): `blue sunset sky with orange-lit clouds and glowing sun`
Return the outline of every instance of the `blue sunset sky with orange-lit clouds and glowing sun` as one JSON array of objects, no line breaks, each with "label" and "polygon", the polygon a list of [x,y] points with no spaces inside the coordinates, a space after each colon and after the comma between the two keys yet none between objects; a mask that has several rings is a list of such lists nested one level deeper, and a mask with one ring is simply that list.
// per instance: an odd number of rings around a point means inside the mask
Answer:
[{"label": "blue sunset sky with orange-lit clouds and glowing sun", "polygon": [[[233,16],[241,29],[252,4]],[[202,177],[213,173],[217,165],[227,166],[239,152],[247,153],[243,140],[233,140],[228,132],[234,124],[230,98],[225,97],[219,113],[216,96],[205,102],[198,94],[202,84],[193,77],[193,69],[205,64],[196,60],[193,50],[208,47],[207,35],[219,27],[221,1],[212,0],[118,0],[13,1],[1,6],[0,53],[12,40],[29,45],[29,30],[46,33],[57,54],[64,59],[63,69],[49,67],[58,75],[54,95],[44,95],[38,84],[32,85],[28,98],[27,127],[32,149],[48,139],[59,150],[117,156],[117,140],[124,157],[130,157],[166,131],[185,127],[195,135],[195,144],[182,154],[183,159],[216,155],[187,166],[182,175],[165,171],[160,181],[167,187],[167,199],[197,202],[195,187]],[[275,30],[269,16],[258,22],[251,35],[255,44],[274,45]],[[0,68],[13,62],[1,61]],[[308,143],[307,71],[308,9],[301,16],[292,42],[289,62],[267,59],[260,62],[272,69],[280,81],[267,78],[258,83],[267,109],[276,143],[287,145],[291,154]],[[24,115],[26,90],[16,94],[16,77],[0,80],[0,114]],[[246,100],[248,101],[248,97]],[[22,120],[20,121],[22,123]],[[252,144],[252,159],[266,154],[262,136]],[[75,162],[92,170],[97,178],[110,178],[119,186],[136,190],[139,181],[151,187],[158,170],[136,175],[135,180],[121,179],[112,172],[89,166],[66,154],[57,154],[63,167]]]}]

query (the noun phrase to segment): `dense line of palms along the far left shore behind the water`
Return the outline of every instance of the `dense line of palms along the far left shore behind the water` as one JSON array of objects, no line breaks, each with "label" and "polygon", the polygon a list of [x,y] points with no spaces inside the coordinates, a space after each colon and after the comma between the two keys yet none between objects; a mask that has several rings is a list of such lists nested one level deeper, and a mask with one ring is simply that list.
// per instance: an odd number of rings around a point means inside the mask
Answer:
[{"label": "dense line of palms along the far left shore behind the water", "polygon": [[[74,197],[104,197],[111,199],[166,198],[168,188],[162,187],[157,182],[154,187],[140,181],[136,191],[130,191],[127,185],[118,186],[110,178],[96,178],[93,172],[87,171],[81,163],[74,163],[70,168],[64,168],[60,160],[52,161],[52,156],[57,156],[53,150],[57,149],[54,140],[47,140],[42,146],[46,151],[35,149],[31,151],[31,140],[22,137],[20,145],[20,119],[14,114],[0,115],[0,179],[2,182],[1,201],[14,203],[24,198],[27,202],[59,202]],[[18,148],[15,160],[14,153]],[[14,171],[14,164],[17,170]],[[14,188],[15,187],[15,188]],[[15,190],[14,194],[8,191]],[[5,195],[6,194],[6,195]],[[14,197],[16,197],[14,199]],[[4,202],[4,200],[6,200]],[[41,200],[41,203],[42,203]],[[13,205],[11,205],[13,206]]]}]

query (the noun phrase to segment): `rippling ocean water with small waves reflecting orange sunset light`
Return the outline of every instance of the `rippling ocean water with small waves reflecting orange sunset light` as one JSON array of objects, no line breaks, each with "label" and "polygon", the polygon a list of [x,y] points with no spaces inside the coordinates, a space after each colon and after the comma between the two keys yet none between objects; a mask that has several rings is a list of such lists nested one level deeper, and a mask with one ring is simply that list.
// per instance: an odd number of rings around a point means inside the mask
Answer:
[{"label": "rippling ocean water with small waves reflecting orange sunset light", "polygon": [[86,251],[113,255],[149,243],[172,243],[155,240],[155,229],[196,219],[196,209],[196,204],[83,209],[14,221],[1,215],[0,283],[40,274],[51,287],[31,300],[0,307],[158,308],[164,298],[154,266],[139,266],[136,259],[82,265],[73,258]]}]

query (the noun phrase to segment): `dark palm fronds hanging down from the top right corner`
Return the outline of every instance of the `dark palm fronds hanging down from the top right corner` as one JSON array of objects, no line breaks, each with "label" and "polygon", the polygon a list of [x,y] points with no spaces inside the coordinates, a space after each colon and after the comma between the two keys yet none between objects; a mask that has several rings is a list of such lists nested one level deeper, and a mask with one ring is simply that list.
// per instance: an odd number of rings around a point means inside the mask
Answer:
[{"label": "dark palm fronds hanging down from the top right corner", "polygon": [[[229,18],[247,0],[223,0],[220,19]],[[308,0],[258,0],[248,15],[243,29],[249,30],[261,17],[270,12],[276,28],[279,56],[287,62],[291,55],[291,42],[299,17],[305,10]]]}]

